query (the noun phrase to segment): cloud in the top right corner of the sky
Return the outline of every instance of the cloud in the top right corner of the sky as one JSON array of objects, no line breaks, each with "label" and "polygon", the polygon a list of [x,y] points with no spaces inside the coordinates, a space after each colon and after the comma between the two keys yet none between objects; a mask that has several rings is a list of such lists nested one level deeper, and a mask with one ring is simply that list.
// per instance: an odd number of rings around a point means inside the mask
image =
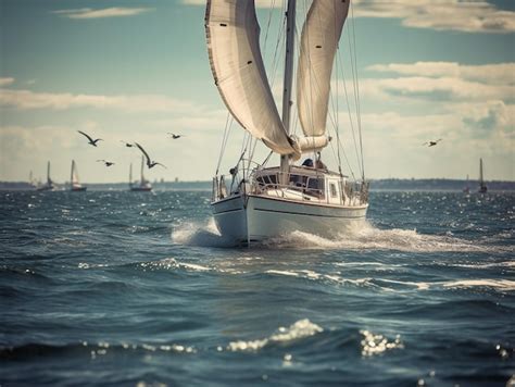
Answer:
[{"label": "cloud in the top right corner of the sky", "polygon": [[481,0],[355,0],[354,16],[401,18],[402,25],[465,33],[515,32],[515,12]]}]

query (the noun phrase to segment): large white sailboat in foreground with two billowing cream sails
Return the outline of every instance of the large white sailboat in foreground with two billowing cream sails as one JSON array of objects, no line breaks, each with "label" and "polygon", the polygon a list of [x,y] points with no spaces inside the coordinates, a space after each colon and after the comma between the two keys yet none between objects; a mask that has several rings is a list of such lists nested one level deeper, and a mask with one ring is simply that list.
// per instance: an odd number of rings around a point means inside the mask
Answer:
[{"label": "large white sailboat in foreground with two billowing cream sails", "polygon": [[[240,245],[292,232],[339,237],[346,227],[365,220],[368,184],[363,157],[361,179],[350,182],[342,173],[339,151],[338,172],[326,167],[321,153],[331,140],[326,130],[330,78],[349,3],[341,0],[312,2],[300,38],[297,101],[293,102],[297,4],[296,0],[288,1],[282,114],[279,116],[261,54],[254,1],[208,1],[205,30],[215,85],[234,120],[251,135],[248,137],[250,146],[242,148],[229,171],[230,184],[227,186],[225,176],[218,173],[219,161],[213,178],[211,207],[224,237]],[[301,136],[291,133],[294,105],[303,132]],[[338,132],[336,137],[338,146]],[[252,149],[259,140],[271,149],[262,163],[253,160]],[[223,143],[224,149],[225,134]],[[280,165],[266,166],[273,153],[280,155]],[[296,164],[302,154],[309,157],[302,164]]]}]

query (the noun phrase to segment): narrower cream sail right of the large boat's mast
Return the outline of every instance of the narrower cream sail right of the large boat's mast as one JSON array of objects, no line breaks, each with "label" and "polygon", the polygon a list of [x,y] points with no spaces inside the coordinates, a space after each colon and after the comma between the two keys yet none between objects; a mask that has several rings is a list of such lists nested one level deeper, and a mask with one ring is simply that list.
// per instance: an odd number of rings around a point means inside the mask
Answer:
[{"label": "narrower cream sail right of the large boat's mast", "polygon": [[302,142],[307,148],[310,143],[315,149],[327,145],[330,76],[349,3],[350,0],[314,0],[302,28],[297,104],[306,137]]}]

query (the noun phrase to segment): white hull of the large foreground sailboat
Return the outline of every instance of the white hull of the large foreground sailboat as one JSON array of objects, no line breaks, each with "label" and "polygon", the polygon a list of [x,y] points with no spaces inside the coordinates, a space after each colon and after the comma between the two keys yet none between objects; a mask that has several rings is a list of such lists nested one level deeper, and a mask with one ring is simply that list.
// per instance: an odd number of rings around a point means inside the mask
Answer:
[{"label": "white hull of the large foreground sailboat", "polygon": [[296,230],[336,237],[346,227],[364,222],[368,209],[368,204],[315,204],[260,195],[231,196],[211,205],[221,234],[238,244],[279,237]]}]

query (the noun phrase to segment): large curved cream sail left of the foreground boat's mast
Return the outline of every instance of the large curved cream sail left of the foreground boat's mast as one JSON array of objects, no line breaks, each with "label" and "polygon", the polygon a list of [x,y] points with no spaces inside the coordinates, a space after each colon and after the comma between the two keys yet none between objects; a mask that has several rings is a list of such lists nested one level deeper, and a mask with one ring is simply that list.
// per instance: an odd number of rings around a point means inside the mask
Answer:
[{"label": "large curved cream sail left of the foreground boat's mast", "polygon": [[253,0],[209,0],[205,30],[211,70],[233,116],[276,153],[300,157],[266,77]]}]

